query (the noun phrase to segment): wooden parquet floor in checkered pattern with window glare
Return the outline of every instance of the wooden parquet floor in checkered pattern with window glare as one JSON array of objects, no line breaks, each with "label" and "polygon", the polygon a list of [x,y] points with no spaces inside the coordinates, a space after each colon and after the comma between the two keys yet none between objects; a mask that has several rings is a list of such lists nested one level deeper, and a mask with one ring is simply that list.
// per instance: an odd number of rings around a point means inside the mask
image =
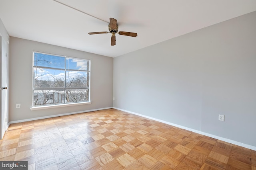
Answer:
[{"label": "wooden parquet floor in checkered pattern with window glare", "polygon": [[116,109],[11,124],[0,160],[31,170],[256,170],[256,151]]}]

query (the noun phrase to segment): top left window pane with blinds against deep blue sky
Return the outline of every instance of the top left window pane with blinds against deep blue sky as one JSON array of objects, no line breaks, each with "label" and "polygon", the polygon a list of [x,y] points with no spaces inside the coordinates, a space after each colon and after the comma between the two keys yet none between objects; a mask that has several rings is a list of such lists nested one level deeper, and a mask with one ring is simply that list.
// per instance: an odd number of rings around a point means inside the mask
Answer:
[{"label": "top left window pane with blinds against deep blue sky", "polygon": [[65,68],[65,57],[34,53],[34,66]]}]

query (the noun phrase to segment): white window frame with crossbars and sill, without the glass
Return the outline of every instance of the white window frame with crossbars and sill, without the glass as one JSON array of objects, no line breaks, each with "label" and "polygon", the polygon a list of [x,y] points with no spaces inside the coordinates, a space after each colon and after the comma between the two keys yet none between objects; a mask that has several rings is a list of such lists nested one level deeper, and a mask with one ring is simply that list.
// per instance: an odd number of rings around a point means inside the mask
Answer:
[{"label": "white window frame with crossbars and sill, without the glass", "polygon": [[[64,58],[64,64],[65,67],[63,68],[54,68],[54,67],[46,67],[46,66],[37,66],[34,64],[34,60],[35,60],[35,53],[39,53],[39,54],[43,54],[43,55],[52,55],[52,56],[56,56],[56,57],[63,57]],[[43,108],[49,108],[49,107],[62,107],[62,106],[72,106],[72,105],[80,105],[80,104],[91,104],[90,102],[90,64],[91,61],[89,59],[81,59],[81,58],[75,58],[75,57],[68,57],[68,56],[64,56],[64,55],[56,55],[56,54],[50,54],[50,53],[44,53],[44,52],[38,52],[38,51],[33,51],[33,59],[32,59],[32,107],[30,108],[31,110],[36,110],[36,109],[40,109],[40,107]],[[67,59],[77,59],[77,60],[81,60],[81,61],[87,61],[87,70],[79,70],[79,69],[67,69],[67,65],[66,65],[66,60]],[[35,81],[35,75],[34,75],[34,69],[35,68],[43,68],[43,69],[53,69],[53,70],[62,70],[64,71],[64,87],[34,87],[34,81]],[[76,72],[86,72],[87,74],[87,83],[86,83],[86,87],[66,87],[67,84],[67,79],[66,79],[66,74],[68,71],[76,71]],[[64,103],[53,103],[53,104],[40,104],[40,105],[34,105],[34,96],[38,94],[34,93],[34,91],[36,90],[63,90],[64,91]],[[66,90],[88,90],[87,92],[87,96],[88,96],[88,101],[80,101],[80,102],[66,102]],[[45,94],[47,95],[51,95],[51,94]],[[54,94],[53,98],[54,98]]]}]

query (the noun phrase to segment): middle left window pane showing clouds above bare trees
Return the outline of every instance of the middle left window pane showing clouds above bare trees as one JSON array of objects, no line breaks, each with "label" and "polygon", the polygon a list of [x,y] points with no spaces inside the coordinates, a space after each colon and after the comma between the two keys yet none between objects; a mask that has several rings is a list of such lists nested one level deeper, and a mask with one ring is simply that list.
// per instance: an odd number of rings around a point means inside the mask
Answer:
[{"label": "middle left window pane showing clouds above bare trees", "polygon": [[65,86],[65,71],[34,68],[34,87],[52,88]]}]

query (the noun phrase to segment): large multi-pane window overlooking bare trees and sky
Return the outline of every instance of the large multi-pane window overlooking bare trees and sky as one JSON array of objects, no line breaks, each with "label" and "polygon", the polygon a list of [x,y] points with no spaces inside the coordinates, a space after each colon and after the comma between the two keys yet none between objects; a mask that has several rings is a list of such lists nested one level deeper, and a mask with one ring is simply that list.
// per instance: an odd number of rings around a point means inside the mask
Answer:
[{"label": "large multi-pane window overlooking bare trees and sky", "polygon": [[89,102],[90,61],[33,52],[33,106]]}]

